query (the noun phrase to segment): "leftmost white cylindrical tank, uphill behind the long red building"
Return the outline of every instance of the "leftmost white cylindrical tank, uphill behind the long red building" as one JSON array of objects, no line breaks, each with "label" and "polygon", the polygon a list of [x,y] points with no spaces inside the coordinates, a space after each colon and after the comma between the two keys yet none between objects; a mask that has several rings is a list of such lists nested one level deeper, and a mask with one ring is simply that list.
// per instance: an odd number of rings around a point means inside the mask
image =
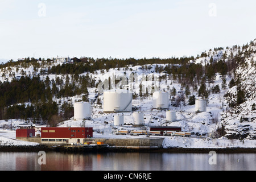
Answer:
[{"label": "leftmost white cylindrical tank, uphill behind the long red building", "polygon": [[88,102],[76,102],[74,104],[74,119],[90,119],[92,107]]}]

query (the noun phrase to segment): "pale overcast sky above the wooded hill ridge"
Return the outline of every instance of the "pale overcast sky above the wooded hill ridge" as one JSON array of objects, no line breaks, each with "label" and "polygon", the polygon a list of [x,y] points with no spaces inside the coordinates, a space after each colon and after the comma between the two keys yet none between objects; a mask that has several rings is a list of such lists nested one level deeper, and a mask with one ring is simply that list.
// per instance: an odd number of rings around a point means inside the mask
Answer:
[{"label": "pale overcast sky above the wooded hill ridge", "polygon": [[0,0],[0,61],[181,57],[256,38],[256,1]]}]

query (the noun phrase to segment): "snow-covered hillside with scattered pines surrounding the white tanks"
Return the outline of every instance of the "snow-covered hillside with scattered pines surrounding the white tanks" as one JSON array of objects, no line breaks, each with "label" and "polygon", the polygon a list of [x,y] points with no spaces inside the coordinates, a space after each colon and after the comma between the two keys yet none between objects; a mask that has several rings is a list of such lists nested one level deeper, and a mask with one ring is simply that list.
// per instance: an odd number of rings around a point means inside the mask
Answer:
[{"label": "snow-covered hillside with scattered pines surrounding the white tanks", "polygon": [[[109,88],[117,89],[129,89],[133,91],[133,110],[142,111],[144,113],[144,121],[146,126],[180,126],[183,131],[191,131],[193,137],[208,137],[213,133],[218,138],[218,143],[226,139],[240,139],[240,140],[255,140],[256,139],[256,39],[254,42],[250,42],[246,46],[233,46],[226,48],[214,48],[208,52],[203,52],[201,56],[197,56],[194,60],[191,60],[187,65],[201,64],[204,69],[210,67],[214,63],[223,61],[229,65],[230,70],[228,74],[216,72],[213,76],[209,76],[209,70],[205,73],[206,78],[193,77],[192,82],[187,84],[184,81],[184,76],[180,73],[178,76],[168,74],[164,68],[177,68],[181,64],[144,64],[144,65],[127,65],[122,68],[110,68],[101,69],[95,72],[85,72],[79,76],[88,76],[89,80],[93,80],[95,86],[88,86],[88,99],[92,104],[92,121],[74,121],[72,118],[66,121],[61,121],[59,127],[75,127],[86,126],[93,127],[94,136],[112,135],[114,136],[114,130],[116,129],[136,129],[132,127],[133,118],[131,113],[125,114],[125,125],[122,127],[114,125],[115,113],[104,113],[103,94],[100,92],[98,85],[105,80],[110,82]],[[39,65],[38,65],[39,64]],[[62,82],[67,82],[67,76],[71,78],[69,82],[80,84],[75,81],[73,75],[56,75],[47,74],[47,69],[53,65],[62,65],[56,61],[43,62],[38,61],[37,68],[32,64],[19,64],[15,67],[5,67],[0,70],[0,81],[11,81],[14,78],[20,78],[24,75],[40,75],[40,79],[45,81],[48,77],[49,80],[56,81],[57,77],[61,78]],[[236,67],[233,71],[231,68]],[[159,68],[163,70],[156,72]],[[203,70],[204,70],[203,69]],[[195,71],[196,72],[196,71]],[[135,75],[135,76],[134,76]],[[196,75],[196,73],[195,73]],[[200,73],[198,74],[200,75]],[[126,78],[134,76],[133,81],[122,82]],[[118,79],[117,79],[118,78]],[[120,79],[122,78],[122,79]],[[152,79],[154,78],[154,79]],[[73,80],[72,80],[73,79]],[[236,80],[236,84],[232,85],[232,81]],[[200,80],[200,81],[199,81]],[[205,81],[206,80],[206,81]],[[205,90],[207,90],[207,111],[203,113],[197,113],[195,104],[189,104],[189,100],[192,96],[199,96],[200,84],[205,81]],[[120,85],[118,85],[120,83]],[[122,84],[121,84],[122,83]],[[124,84],[125,83],[125,84]],[[53,84],[49,84],[53,87]],[[143,85],[143,86],[142,86]],[[154,86],[152,86],[154,85]],[[201,84],[202,85],[202,84]],[[59,86],[61,87],[61,86]],[[154,90],[160,90],[168,92],[170,94],[170,107],[169,110],[176,111],[175,122],[166,121],[166,111],[152,109],[152,94],[150,88],[154,87]],[[146,89],[148,88],[148,89]],[[217,90],[216,90],[217,89]],[[219,89],[219,90],[218,90]],[[241,103],[238,102],[240,92],[243,91]],[[52,100],[61,107],[64,102],[74,104],[77,101],[82,101],[84,94],[77,94],[72,97],[55,97]],[[18,104],[18,103],[17,103]],[[22,103],[21,103],[22,104]],[[30,105],[27,102],[26,105]],[[16,119],[15,121],[25,122],[22,119]],[[2,129],[13,129],[17,125],[11,125],[11,119],[2,120],[0,127]],[[172,138],[175,140],[164,140],[164,146],[199,146],[199,140],[196,138],[182,139],[186,140],[186,144],[182,144],[181,138]],[[206,139],[203,139],[206,140]],[[175,142],[176,141],[176,142]],[[202,142],[202,139],[200,139]],[[212,139],[207,140],[212,143]],[[190,143],[190,144],[188,144]],[[197,144],[196,144],[197,143]],[[234,144],[235,143],[235,144]],[[239,142],[238,142],[239,143]],[[233,142],[234,146],[238,144]],[[249,142],[249,146],[255,147],[255,142]],[[241,144],[241,143],[240,143]],[[207,146],[201,144],[202,146]],[[210,146],[210,144],[209,144]],[[214,146],[211,144],[211,146]],[[223,142],[222,147],[232,146],[229,142]]]}]

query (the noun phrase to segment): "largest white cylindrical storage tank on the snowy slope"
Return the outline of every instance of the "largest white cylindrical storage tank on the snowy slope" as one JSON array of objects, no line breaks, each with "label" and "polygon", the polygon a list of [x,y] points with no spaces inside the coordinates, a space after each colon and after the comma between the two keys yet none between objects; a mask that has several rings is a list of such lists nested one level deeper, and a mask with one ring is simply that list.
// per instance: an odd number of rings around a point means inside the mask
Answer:
[{"label": "largest white cylindrical storage tank on the snowy slope", "polygon": [[103,111],[105,113],[113,113],[115,111],[129,112],[132,110],[133,93],[129,90],[106,90],[103,96]]}]

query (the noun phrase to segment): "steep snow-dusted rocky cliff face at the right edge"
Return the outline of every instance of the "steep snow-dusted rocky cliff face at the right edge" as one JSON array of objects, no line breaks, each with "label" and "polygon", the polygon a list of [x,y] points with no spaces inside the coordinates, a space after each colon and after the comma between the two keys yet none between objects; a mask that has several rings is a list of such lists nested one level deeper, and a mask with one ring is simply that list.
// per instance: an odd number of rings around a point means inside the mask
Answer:
[{"label": "steep snow-dusted rocky cliff face at the right edge", "polygon": [[[240,79],[240,84],[229,89],[225,97],[230,105],[234,105],[222,115],[228,138],[256,139],[256,40],[254,45],[245,49],[244,52],[251,53],[243,55],[245,59],[236,70],[236,77]],[[243,92],[243,102],[235,105],[238,87]]]}]

